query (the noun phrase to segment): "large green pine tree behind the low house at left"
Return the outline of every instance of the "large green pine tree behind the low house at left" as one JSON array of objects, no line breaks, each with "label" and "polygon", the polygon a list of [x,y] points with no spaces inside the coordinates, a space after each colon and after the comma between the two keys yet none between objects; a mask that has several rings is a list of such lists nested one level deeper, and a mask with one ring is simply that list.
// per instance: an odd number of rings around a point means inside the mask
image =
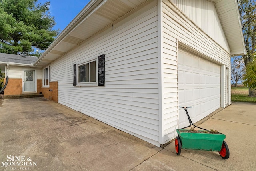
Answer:
[{"label": "large green pine tree behind the low house at left", "polygon": [[45,50],[59,30],[50,16],[50,2],[37,0],[0,0],[0,52],[8,54],[34,53]]}]

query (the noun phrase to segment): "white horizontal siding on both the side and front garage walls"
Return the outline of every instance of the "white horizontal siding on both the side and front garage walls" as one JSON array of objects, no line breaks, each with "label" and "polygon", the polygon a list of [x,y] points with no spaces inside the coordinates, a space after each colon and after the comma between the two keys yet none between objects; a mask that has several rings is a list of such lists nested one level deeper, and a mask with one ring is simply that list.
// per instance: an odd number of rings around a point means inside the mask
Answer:
[{"label": "white horizontal siding on both the side and front garage walls", "polygon": [[[172,2],[159,2],[162,8],[157,3],[142,4],[52,62],[51,79],[58,81],[59,103],[160,146],[177,134],[178,49],[188,48],[221,68],[230,66],[230,52]],[[211,15],[218,18],[216,11]],[[222,30],[220,24],[213,27]],[[73,86],[73,65],[102,54],[105,85]],[[220,74],[224,86],[225,72]]]}]

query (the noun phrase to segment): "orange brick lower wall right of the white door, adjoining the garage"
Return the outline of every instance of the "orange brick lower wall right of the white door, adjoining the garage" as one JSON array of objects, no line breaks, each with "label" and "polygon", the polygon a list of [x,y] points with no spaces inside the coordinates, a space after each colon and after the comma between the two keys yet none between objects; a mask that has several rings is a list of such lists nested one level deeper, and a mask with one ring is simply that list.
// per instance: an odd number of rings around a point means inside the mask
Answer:
[{"label": "orange brick lower wall right of the white door, adjoining the garage", "polygon": [[[40,82],[40,81],[38,81]],[[37,82],[37,83],[38,83]],[[39,83],[38,83],[39,85]],[[38,93],[42,92],[44,98],[50,99],[52,101],[58,102],[58,82],[50,82],[49,88],[42,87],[42,80],[40,82],[40,87],[38,86]]]}]

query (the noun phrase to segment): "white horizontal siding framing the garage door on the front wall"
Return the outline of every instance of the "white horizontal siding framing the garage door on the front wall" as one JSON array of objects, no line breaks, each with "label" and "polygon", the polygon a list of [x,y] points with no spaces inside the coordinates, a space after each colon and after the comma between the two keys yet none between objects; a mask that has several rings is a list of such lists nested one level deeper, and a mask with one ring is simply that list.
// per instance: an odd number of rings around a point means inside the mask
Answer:
[{"label": "white horizontal siding framing the garage door on the front wall", "polygon": [[[185,7],[184,7],[185,8]],[[190,8],[190,6],[186,6]],[[203,16],[204,14],[200,14]],[[212,13],[215,15],[215,13]],[[209,35],[198,28],[182,11],[168,0],[163,0],[162,68],[164,70],[163,128],[164,143],[176,136],[178,128],[178,43],[179,47],[200,52],[220,64],[230,66],[230,54]],[[213,16],[217,17],[217,16]],[[205,23],[207,24],[207,23]],[[215,25],[220,29],[219,25]],[[214,28],[213,28],[214,29]],[[221,85],[222,86],[222,85]],[[223,85],[224,86],[224,85]]]}]

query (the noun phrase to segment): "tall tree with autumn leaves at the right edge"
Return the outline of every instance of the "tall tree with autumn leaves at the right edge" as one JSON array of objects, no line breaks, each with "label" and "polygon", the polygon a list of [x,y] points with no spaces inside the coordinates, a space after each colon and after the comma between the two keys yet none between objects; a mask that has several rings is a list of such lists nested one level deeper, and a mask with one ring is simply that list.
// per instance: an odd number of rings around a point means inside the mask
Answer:
[{"label": "tall tree with autumn leaves at the right edge", "polygon": [[244,84],[249,86],[249,96],[256,96],[255,87],[253,84],[251,85],[255,78],[250,76],[252,74],[250,70],[255,65],[255,62],[252,61],[256,46],[256,0],[238,0],[238,8],[246,46],[246,55],[241,58],[246,66],[246,74],[244,75],[246,82]]}]

